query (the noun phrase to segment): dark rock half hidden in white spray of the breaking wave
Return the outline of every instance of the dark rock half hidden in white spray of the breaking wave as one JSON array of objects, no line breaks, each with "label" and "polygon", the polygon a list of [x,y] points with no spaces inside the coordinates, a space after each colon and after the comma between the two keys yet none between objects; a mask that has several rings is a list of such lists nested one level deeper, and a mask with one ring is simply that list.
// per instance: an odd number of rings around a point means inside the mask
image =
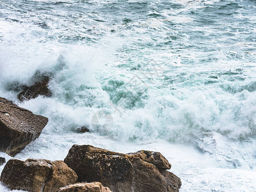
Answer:
[{"label": "dark rock half hidden in white spray of the breaking wave", "polygon": [[24,90],[21,93],[19,93],[17,98],[20,101],[23,101],[23,100],[35,99],[39,95],[43,95],[45,97],[51,97],[52,92],[48,88],[49,80],[50,80],[49,77],[45,77],[42,81],[36,82],[32,86],[25,86]]}]

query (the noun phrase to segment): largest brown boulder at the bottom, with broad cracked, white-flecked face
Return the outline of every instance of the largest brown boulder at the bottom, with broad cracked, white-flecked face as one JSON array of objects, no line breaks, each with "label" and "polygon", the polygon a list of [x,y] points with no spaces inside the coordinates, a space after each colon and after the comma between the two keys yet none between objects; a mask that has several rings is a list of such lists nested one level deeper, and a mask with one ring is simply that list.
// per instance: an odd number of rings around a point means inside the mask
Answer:
[{"label": "largest brown boulder at the bottom, with broad cracked, white-flecked face", "polygon": [[179,177],[158,152],[120,154],[90,145],[73,145],[65,158],[79,182],[99,181],[112,191],[179,191]]}]

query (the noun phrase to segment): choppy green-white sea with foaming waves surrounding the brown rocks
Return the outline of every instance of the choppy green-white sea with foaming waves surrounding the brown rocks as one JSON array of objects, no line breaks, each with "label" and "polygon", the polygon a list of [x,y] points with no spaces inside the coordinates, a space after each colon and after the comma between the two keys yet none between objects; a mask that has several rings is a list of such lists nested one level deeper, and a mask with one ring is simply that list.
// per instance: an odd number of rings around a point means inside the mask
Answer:
[{"label": "choppy green-white sea with foaming waves surrounding the brown rocks", "polygon": [[155,150],[180,191],[256,191],[256,1],[1,0],[0,96],[49,118],[15,158]]}]

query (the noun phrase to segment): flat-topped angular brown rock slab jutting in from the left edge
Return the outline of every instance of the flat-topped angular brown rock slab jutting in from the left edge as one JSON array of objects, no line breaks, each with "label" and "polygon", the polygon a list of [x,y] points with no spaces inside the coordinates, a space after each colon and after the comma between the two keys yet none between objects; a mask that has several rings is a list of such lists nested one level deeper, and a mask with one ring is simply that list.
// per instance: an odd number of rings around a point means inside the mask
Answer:
[{"label": "flat-topped angular brown rock slab jutting in from the left edge", "polygon": [[15,156],[40,136],[48,118],[0,97],[0,151]]}]

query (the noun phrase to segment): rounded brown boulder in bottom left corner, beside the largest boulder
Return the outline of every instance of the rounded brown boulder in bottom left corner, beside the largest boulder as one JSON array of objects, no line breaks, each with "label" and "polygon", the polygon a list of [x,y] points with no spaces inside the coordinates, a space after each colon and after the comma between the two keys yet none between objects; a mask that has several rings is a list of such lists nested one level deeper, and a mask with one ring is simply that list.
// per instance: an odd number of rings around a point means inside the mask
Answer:
[{"label": "rounded brown boulder in bottom left corner, beside the largest boulder", "polygon": [[11,159],[4,166],[1,182],[10,189],[31,192],[56,192],[77,182],[77,174],[63,161]]}]

